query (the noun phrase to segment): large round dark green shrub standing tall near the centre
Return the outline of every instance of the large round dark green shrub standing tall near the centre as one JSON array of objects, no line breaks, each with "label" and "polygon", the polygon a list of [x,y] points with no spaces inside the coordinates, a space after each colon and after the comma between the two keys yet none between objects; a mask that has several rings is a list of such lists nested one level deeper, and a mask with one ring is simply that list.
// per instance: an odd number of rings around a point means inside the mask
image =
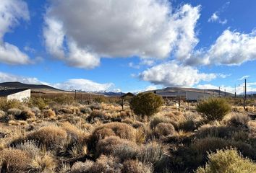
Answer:
[{"label": "large round dark green shrub standing tall near the centre", "polygon": [[162,105],[162,97],[151,92],[137,94],[130,101],[130,107],[133,112],[137,115],[142,115],[142,117],[155,114]]}]

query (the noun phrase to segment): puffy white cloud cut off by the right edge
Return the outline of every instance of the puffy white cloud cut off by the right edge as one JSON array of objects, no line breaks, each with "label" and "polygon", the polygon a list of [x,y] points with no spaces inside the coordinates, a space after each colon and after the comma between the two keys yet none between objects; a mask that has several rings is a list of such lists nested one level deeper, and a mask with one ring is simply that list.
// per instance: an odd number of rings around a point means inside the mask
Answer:
[{"label": "puffy white cloud cut off by the right edge", "polygon": [[189,65],[240,65],[256,59],[256,30],[246,34],[225,30],[206,50],[197,50]]}]

